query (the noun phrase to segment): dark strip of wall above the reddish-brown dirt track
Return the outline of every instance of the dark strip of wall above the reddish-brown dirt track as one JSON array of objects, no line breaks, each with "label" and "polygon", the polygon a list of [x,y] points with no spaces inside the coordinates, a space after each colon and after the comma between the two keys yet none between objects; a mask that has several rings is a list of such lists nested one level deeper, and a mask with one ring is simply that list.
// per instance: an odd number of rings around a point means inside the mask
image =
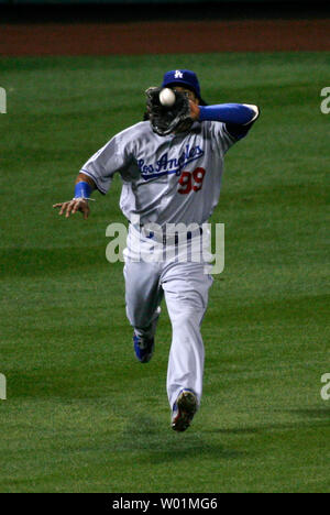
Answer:
[{"label": "dark strip of wall above the reddish-brown dirt track", "polygon": [[[329,15],[323,0],[0,0],[1,20],[151,20],[319,18]],[[166,11],[165,11],[166,9]]]}]

